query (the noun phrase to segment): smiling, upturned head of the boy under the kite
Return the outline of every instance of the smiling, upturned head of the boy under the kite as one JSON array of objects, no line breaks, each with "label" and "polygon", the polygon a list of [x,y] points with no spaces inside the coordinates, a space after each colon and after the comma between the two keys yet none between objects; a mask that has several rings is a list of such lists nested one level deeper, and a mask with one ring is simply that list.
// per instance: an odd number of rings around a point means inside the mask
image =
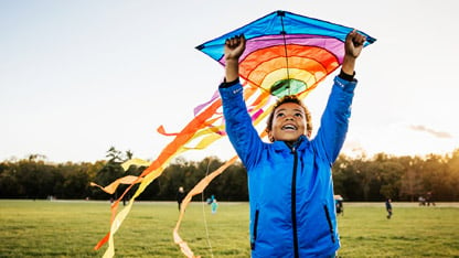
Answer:
[{"label": "smiling, upturned head of the boy under the kite", "polygon": [[295,103],[285,103],[276,108],[273,127],[268,132],[271,140],[293,142],[306,132],[305,109]]}]

